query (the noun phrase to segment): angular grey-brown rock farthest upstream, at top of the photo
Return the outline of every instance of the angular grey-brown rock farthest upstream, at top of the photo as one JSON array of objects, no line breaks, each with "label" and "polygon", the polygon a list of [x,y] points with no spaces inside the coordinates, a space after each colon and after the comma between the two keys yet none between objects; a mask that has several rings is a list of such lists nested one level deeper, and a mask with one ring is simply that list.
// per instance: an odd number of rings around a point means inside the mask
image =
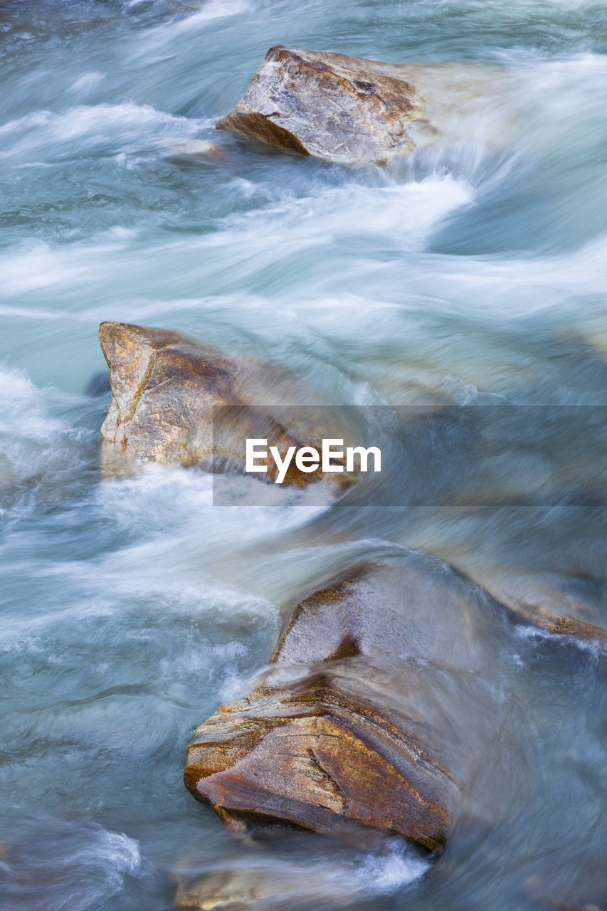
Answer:
[{"label": "angular grey-brown rock farthest upstream, at top of the photo", "polygon": [[381,163],[438,139],[462,138],[464,109],[497,70],[395,66],[278,45],[216,127],[338,164]]}]

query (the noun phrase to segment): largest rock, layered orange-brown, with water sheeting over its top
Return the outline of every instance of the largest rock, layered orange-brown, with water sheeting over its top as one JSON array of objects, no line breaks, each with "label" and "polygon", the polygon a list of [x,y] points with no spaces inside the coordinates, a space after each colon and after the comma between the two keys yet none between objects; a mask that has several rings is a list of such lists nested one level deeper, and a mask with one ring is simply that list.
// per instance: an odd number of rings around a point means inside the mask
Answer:
[{"label": "largest rock, layered orange-brown, with water sheeting over its top", "polygon": [[233,826],[378,830],[440,852],[496,717],[470,675],[495,658],[488,613],[422,557],[337,578],[294,609],[259,685],[194,733],[190,793]]}]

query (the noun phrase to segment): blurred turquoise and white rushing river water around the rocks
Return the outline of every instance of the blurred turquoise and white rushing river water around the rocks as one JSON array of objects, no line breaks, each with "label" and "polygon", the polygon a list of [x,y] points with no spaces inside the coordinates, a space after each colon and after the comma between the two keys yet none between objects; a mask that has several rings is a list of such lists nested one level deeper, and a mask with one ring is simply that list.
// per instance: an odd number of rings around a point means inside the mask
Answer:
[{"label": "blurred turquoise and white rushing river water around the rocks", "polygon": [[[490,742],[454,720],[475,771],[435,865],[242,843],[181,781],[283,605],[349,559],[562,571],[604,623],[601,508],[213,508],[194,471],[102,480],[96,379],[113,319],[272,357],[339,404],[607,404],[607,6],[11,0],[0,25],[2,906],[160,911],[184,865],[261,869],[284,907],[607,901],[605,663],[528,628],[496,632]],[[448,147],[330,167],[213,128],[277,43],[481,61],[499,91],[479,82]]]}]

